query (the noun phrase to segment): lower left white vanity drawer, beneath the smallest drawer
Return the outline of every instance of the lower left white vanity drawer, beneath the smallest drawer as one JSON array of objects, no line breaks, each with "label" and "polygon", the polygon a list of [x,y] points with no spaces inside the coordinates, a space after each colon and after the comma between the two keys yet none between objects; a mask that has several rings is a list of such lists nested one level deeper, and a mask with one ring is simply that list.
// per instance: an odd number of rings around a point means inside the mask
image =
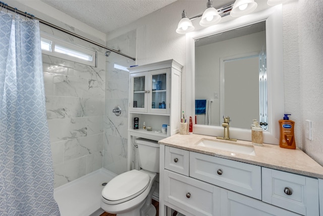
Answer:
[{"label": "lower left white vanity drawer, beneath the smallest drawer", "polygon": [[213,203],[220,202],[220,188],[164,170],[164,199],[192,215],[219,215]]}]

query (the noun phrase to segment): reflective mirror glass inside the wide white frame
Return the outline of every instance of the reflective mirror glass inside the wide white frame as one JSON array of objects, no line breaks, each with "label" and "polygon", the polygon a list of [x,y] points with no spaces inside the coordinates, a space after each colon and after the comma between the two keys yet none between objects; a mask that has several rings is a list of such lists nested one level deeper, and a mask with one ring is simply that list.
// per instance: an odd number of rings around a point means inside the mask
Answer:
[{"label": "reflective mirror glass inside the wide white frame", "polygon": [[265,30],[262,21],[195,40],[197,124],[220,126],[230,116],[231,127],[257,119],[267,131]]}]

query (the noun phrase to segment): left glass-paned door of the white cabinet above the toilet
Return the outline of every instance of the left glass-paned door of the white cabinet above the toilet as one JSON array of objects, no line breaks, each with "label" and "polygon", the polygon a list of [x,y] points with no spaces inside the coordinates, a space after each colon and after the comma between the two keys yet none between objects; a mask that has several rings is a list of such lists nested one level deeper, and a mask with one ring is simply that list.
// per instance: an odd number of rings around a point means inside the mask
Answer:
[{"label": "left glass-paned door of the white cabinet above the toilet", "polygon": [[147,112],[147,85],[145,73],[133,74],[133,76],[131,76],[130,88],[130,110]]}]

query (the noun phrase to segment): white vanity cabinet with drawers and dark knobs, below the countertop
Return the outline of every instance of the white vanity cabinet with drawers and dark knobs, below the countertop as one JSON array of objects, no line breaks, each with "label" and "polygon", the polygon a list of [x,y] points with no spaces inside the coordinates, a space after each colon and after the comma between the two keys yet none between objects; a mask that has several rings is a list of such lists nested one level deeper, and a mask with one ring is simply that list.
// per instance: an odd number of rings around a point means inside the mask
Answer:
[{"label": "white vanity cabinet with drawers and dark knobs, below the countertop", "polygon": [[318,185],[315,178],[160,145],[159,215],[172,208],[184,215],[319,216]]}]

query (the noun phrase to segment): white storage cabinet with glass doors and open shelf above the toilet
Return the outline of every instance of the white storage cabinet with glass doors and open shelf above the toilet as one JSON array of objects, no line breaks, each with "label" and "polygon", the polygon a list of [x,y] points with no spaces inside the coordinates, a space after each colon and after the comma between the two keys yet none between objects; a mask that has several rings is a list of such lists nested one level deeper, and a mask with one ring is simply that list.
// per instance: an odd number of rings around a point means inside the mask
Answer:
[{"label": "white storage cabinet with glass doors and open shelf above the toilet", "polygon": [[[183,66],[167,60],[129,68],[128,163],[134,164],[134,138],[159,141],[178,133],[181,121],[181,77]],[[139,119],[134,128],[134,118]],[[145,127],[143,128],[143,122]],[[163,133],[162,125],[168,125]],[[147,128],[151,127],[151,131]]]}]

